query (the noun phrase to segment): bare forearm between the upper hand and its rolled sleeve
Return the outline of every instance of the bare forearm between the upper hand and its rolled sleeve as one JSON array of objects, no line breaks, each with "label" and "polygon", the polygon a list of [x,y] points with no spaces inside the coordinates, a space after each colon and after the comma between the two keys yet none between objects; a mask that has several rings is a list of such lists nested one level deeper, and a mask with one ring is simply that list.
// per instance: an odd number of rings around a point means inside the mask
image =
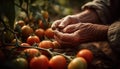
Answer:
[{"label": "bare forearm between the upper hand and its rolled sleeve", "polygon": [[93,9],[85,9],[79,14],[76,14],[81,22],[100,23],[97,13]]}]

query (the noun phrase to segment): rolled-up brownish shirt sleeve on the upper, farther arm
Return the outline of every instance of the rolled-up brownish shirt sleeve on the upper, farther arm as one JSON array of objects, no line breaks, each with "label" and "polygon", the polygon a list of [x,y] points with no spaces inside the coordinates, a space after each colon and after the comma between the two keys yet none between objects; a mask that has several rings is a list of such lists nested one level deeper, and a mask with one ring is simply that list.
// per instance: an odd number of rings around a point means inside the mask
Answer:
[{"label": "rolled-up brownish shirt sleeve on the upper, farther arm", "polygon": [[111,20],[111,14],[109,11],[110,1],[109,0],[93,0],[92,2],[88,2],[82,6],[82,10],[85,8],[92,8],[94,9],[101,22],[106,24],[109,23]]}]

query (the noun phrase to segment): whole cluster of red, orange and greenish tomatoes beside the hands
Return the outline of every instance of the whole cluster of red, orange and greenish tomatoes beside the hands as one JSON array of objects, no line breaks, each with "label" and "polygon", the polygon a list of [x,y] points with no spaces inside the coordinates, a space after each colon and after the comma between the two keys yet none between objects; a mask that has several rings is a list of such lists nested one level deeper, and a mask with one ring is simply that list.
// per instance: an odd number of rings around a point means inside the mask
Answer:
[{"label": "whole cluster of red, orange and greenish tomatoes beside the hands", "polygon": [[[48,13],[45,13],[44,18],[48,19]],[[50,28],[50,24],[46,24],[40,19],[37,21],[37,28],[32,24],[26,24],[26,21],[19,20],[15,23],[15,27],[20,27],[18,30],[18,38],[14,38],[11,43],[16,46],[6,46],[6,49],[14,57],[7,58],[8,60],[2,67],[6,66],[10,69],[86,69],[87,64],[93,59],[93,54],[88,49],[82,49],[74,55],[74,58],[69,58],[69,55],[58,53],[54,55],[50,49],[59,49],[62,46],[54,40],[54,32]],[[5,59],[4,49],[0,50],[0,59]],[[5,50],[6,51],[6,50]],[[8,52],[6,52],[8,53]],[[17,56],[16,56],[17,55]],[[3,60],[0,60],[3,61]]]}]

